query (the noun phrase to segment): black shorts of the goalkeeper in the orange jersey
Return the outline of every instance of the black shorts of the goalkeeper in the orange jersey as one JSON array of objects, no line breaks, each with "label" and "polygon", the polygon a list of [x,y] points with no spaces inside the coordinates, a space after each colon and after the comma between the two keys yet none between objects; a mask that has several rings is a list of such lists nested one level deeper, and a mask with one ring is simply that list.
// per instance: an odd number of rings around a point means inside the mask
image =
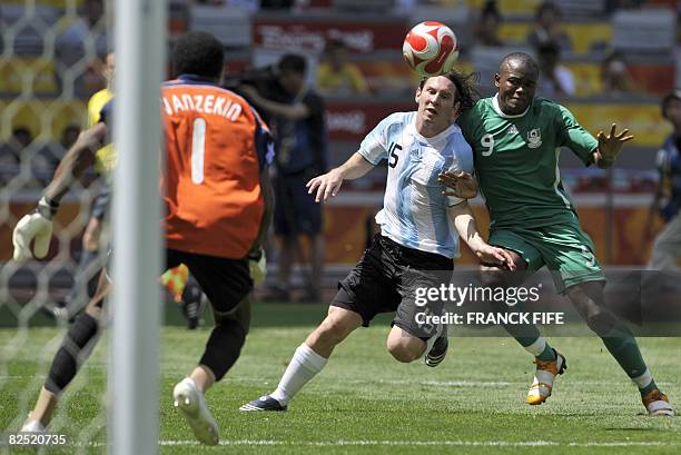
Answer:
[{"label": "black shorts of the goalkeeper in the orange jersey", "polygon": [[253,290],[248,259],[227,259],[195,253],[166,250],[166,268],[184,264],[210,300],[214,310],[233,311]]}]

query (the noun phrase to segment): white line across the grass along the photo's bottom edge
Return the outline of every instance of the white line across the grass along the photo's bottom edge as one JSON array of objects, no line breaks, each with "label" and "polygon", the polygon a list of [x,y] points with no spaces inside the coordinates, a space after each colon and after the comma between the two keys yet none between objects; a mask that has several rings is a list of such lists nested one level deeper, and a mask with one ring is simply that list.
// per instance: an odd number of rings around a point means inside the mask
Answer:
[{"label": "white line across the grass along the photo's bottom edge", "polygon": [[[106,443],[90,443],[90,446],[102,446]],[[200,443],[193,439],[159,441],[160,446],[199,446]],[[221,446],[310,446],[310,447],[337,447],[337,446],[463,446],[463,447],[678,447],[681,443],[662,442],[586,442],[586,443],[561,443],[554,441],[270,441],[270,439],[237,439],[220,441]]]}]

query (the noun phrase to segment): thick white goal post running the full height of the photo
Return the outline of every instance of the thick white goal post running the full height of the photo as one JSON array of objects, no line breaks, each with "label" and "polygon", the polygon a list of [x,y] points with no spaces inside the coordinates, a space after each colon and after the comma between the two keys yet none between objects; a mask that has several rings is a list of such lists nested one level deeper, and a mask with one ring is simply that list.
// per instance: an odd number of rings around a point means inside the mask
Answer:
[{"label": "thick white goal post running the full height of the photo", "polygon": [[166,0],[115,2],[114,294],[109,368],[112,455],[156,454],[159,425],[158,192]]}]

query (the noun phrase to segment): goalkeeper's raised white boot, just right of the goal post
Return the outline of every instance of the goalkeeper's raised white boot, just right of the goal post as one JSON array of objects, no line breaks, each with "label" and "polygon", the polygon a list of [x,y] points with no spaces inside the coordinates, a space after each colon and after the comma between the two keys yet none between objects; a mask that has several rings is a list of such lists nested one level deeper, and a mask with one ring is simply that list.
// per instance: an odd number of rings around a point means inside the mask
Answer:
[{"label": "goalkeeper's raised white boot, just right of the goal post", "polygon": [[196,438],[206,445],[217,445],[220,441],[218,427],[204,394],[196,387],[194,379],[184,378],[172,389],[175,408],[185,416]]}]

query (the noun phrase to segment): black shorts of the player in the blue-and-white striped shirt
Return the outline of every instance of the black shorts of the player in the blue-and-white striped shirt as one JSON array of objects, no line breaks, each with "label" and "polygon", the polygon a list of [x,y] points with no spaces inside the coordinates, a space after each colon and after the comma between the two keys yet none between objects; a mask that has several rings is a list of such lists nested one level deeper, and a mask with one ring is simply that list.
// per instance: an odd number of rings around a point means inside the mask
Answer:
[{"label": "black shorts of the player in the blue-and-white striped shirt", "polygon": [[444,305],[437,299],[424,303],[418,289],[448,284],[453,269],[453,260],[445,256],[407,248],[377,234],[359,263],[338,283],[330,305],[357,313],[365,327],[377,314],[395,311],[392,325],[428,339],[436,327],[420,324],[416,315],[440,315]]}]

